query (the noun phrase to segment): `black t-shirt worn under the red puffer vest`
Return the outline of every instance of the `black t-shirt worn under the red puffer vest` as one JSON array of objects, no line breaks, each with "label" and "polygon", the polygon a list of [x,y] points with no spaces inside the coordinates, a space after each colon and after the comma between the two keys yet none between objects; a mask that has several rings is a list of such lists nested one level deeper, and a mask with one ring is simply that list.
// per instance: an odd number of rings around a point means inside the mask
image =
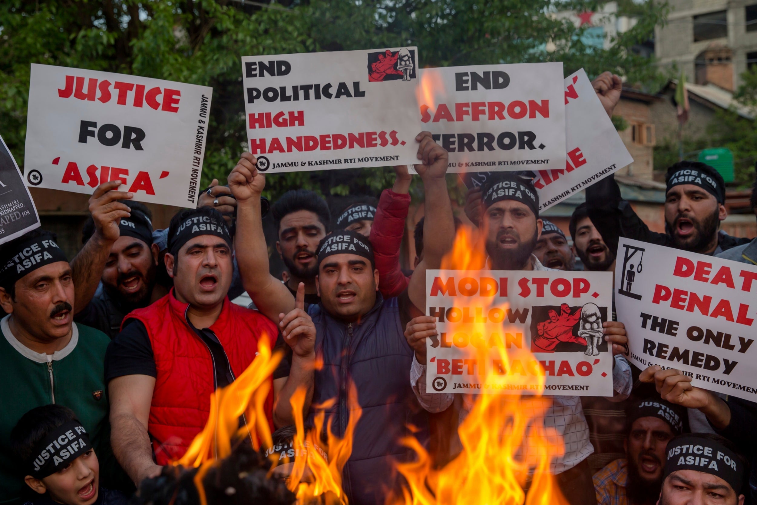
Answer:
[{"label": "black t-shirt worn under the red puffer vest", "polygon": [[[213,357],[216,388],[223,388],[234,381],[229,358],[217,336],[208,328],[196,329],[195,334],[207,345]],[[157,377],[155,357],[147,329],[142,321],[129,320],[123,331],[107,346],[105,353],[105,382],[121,376]]]}]

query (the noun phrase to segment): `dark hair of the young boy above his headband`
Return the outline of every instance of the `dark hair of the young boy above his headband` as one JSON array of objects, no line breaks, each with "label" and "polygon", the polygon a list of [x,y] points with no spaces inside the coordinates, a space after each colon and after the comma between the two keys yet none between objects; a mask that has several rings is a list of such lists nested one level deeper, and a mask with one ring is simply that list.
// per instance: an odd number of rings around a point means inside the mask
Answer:
[{"label": "dark hair of the young boy above his headband", "polygon": [[[23,414],[11,430],[11,452],[19,460],[17,468],[26,472],[34,457],[34,448],[58,426],[76,419],[76,414],[63,405],[35,407]],[[78,420],[78,419],[76,419]]]}]

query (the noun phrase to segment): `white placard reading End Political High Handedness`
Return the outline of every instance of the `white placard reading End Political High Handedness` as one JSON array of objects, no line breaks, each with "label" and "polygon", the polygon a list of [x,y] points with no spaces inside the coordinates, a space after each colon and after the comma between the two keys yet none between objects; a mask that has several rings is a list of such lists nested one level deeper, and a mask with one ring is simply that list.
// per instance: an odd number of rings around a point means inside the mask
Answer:
[{"label": "white placard reading End Political High Handedness", "polygon": [[418,48],[246,56],[241,67],[257,170],[418,161]]}]

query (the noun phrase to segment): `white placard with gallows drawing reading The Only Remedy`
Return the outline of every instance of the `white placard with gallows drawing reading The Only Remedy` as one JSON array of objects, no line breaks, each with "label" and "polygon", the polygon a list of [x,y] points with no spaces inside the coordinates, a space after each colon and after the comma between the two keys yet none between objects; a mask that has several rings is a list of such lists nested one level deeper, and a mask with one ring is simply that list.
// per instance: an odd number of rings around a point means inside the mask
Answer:
[{"label": "white placard with gallows drawing reading The Only Remedy", "polygon": [[692,385],[757,400],[757,267],[621,238],[615,310],[631,360]]}]

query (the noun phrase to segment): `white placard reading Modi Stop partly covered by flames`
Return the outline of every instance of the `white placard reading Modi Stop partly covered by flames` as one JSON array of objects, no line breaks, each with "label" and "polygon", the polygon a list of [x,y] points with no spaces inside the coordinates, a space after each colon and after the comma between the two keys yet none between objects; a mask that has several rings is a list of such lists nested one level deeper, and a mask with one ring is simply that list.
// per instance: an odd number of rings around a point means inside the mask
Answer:
[{"label": "white placard reading Modi Stop partly covered by flames", "polygon": [[426,289],[429,393],[612,396],[611,273],[428,270]]}]

